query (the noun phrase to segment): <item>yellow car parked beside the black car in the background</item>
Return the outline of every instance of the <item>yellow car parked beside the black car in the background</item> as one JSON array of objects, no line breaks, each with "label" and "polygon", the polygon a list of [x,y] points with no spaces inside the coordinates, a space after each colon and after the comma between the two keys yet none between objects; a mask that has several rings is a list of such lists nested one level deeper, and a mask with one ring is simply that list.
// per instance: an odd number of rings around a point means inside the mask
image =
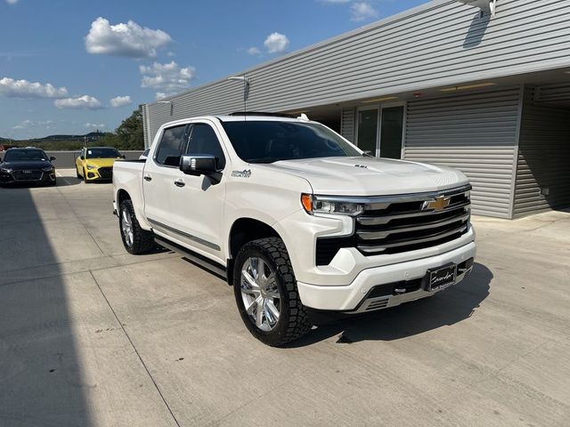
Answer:
[{"label": "yellow car parked beside the black car in the background", "polygon": [[121,156],[112,147],[89,147],[82,149],[75,161],[77,178],[85,183],[113,179],[113,165]]}]

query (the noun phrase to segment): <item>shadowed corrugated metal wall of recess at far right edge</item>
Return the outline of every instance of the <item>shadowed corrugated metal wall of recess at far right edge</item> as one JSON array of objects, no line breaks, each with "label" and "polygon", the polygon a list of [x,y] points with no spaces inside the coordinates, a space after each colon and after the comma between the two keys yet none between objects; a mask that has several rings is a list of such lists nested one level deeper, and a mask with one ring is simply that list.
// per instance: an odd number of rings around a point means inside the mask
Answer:
[{"label": "shadowed corrugated metal wall of recess at far right edge", "polygon": [[[527,88],[518,147],[515,216],[570,205],[570,109],[537,105]],[[542,88],[540,89],[542,97]],[[556,93],[552,93],[556,97]],[[549,189],[548,196],[541,189]]]}]

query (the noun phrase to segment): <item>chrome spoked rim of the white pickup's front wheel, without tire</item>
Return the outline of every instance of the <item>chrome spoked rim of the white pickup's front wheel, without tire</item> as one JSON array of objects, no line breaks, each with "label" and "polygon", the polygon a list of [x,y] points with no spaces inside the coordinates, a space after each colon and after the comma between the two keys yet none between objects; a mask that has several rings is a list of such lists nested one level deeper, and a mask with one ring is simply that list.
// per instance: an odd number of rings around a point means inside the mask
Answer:
[{"label": "chrome spoked rim of the white pickup's front wheel, without tire", "polygon": [[281,294],[275,271],[258,257],[241,267],[241,298],[249,318],[262,331],[271,331],[279,321]]}]

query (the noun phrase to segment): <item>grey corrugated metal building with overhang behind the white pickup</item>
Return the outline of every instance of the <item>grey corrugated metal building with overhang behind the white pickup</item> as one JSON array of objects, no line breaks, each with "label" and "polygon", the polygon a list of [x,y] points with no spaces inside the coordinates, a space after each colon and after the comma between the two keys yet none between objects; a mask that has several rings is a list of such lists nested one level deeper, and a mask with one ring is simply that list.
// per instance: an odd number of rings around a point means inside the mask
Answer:
[{"label": "grey corrugated metal building with overhang behind the white pickup", "polygon": [[[570,205],[570,0],[435,0],[239,75],[250,110],[459,168],[474,214]],[[145,143],[168,121],[242,109],[228,79],[145,104]]]}]

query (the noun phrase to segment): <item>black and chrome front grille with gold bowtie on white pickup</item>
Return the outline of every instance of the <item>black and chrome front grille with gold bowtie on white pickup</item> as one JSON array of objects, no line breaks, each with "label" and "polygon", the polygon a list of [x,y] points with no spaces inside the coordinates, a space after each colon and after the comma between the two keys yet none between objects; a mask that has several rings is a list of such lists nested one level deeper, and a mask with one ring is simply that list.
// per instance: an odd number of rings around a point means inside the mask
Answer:
[{"label": "black and chrome front grille with gold bowtie on white pickup", "polygon": [[470,189],[366,198],[353,236],[317,239],[316,263],[329,264],[342,247],[365,256],[400,254],[460,238],[468,231]]}]

